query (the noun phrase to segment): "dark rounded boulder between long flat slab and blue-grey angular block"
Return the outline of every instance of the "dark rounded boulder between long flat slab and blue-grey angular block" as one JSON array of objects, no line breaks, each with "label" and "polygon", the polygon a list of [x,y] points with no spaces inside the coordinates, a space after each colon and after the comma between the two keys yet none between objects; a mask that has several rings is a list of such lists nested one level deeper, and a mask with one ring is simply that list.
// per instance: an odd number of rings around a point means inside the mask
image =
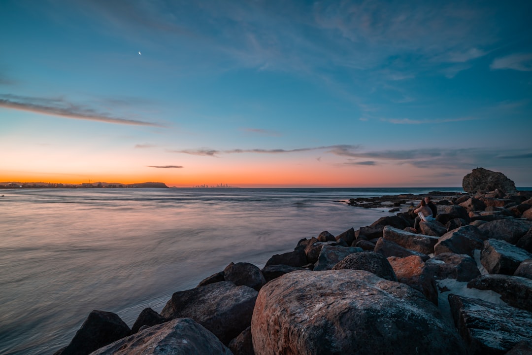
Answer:
[{"label": "dark rounded boulder between long flat slab and blue-grey angular block", "polygon": [[434,254],[467,254],[472,257],[475,249],[482,249],[484,236],[477,227],[463,226],[445,233],[434,246]]}]

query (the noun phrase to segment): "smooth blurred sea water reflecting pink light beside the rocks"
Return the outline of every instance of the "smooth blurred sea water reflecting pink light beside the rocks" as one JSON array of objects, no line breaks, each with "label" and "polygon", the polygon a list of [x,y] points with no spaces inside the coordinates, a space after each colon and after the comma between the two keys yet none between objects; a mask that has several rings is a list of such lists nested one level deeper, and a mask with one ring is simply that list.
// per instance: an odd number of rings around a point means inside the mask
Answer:
[{"label": "smooth blurred sea water reflecting pink light beside the rocks", "polygon": [[263,267],[383,210],[351,197],[460,188],[0,190],[0,354],[49,354],[94,309],[131,326],[230,262]]}]

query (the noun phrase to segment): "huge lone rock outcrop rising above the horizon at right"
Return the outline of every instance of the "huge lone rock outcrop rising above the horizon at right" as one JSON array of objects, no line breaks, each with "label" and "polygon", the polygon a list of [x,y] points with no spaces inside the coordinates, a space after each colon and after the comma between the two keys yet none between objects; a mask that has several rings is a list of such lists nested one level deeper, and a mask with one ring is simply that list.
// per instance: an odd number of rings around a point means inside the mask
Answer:
[{"label": "huge lone rock outcrop rising above the horizon at right", "polygon": [[462,179],[462,188],[470,194],[486,193],[495,189],[505,193],[516,192],[516,184],[502,172],[495,172],[484,168],[473,169]]}]

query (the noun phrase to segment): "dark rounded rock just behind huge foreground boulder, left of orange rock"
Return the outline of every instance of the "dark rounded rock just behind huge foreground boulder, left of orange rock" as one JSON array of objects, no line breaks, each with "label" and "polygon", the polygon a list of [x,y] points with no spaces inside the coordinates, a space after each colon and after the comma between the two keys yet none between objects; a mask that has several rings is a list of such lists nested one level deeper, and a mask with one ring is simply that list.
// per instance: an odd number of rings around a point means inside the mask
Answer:
[{"label": "dark rounded rock just behind huge foreground boulder, left of orange rock", "polygon": [[365,270],[372,274],[382,277],[390,281],[397,281],[394,269],[383,254],[369,252],[369,253],[354,253],[347,255],[344,260],[337,263],[332,270]]}]

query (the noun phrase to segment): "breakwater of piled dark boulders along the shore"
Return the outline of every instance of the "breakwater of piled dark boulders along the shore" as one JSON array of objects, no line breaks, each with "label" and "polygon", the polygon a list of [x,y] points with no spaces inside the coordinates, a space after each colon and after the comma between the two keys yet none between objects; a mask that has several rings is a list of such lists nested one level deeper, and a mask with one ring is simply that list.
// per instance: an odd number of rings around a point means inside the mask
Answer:
[{"label": "breakwater of piled dark boulders along the shore", "polygon": [[421,233],[402,212],[230,263],[131,329],[93,311],[56,355],[532,353],[532,192],[437,209]]}]

